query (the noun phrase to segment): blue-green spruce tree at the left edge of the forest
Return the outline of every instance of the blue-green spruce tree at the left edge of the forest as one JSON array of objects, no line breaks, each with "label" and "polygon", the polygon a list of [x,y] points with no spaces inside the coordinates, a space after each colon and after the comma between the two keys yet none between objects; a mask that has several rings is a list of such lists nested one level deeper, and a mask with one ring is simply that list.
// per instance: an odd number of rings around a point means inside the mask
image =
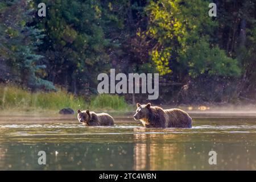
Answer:
[{"label": "blue-green spruce tree at the left edge of the forest", "polygon": [[[54,90],[53,84],[44,80],[37,72],[43,72],[43,58],[36,51],[42,44],[44,35],[31,22],[31,12],[27,1],[6,0],[0,5],[3,16],[0,17],[0,59],[11,67],[10,80],[19,82],[31,89],[44,88]],[[12,18],[10,18],[10,16]],[[7,78],[5,78],[6,81]]]}]

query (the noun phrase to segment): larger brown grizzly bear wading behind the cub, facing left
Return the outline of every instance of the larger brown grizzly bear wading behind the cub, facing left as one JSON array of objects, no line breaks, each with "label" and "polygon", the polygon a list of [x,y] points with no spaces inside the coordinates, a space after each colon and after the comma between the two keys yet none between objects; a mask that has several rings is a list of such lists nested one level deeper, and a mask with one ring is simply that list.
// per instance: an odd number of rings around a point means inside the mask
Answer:
[{"label": "larger brown grizzly bear wading behind the cub, facing left", "polygon": [[192,127],[188,113],[180,109],[162,109],[158,106],[137,103],[135,120],[140,120],[144,127]]}]

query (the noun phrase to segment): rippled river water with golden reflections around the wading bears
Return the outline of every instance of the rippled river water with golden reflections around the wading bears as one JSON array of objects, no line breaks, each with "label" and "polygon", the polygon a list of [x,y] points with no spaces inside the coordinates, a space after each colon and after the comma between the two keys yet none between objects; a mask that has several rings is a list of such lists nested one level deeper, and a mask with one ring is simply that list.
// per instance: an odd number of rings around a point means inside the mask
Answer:
[{"label": "rippled river water with golden reflections around the wading bears", "polygon": [[[193,115],[192,115],[193,116]],[[118,117],[85,127],[75,116],[0,116],[0,169],[256,169],[256,116],[193,117],[192,129],[144,129]],[[208,162],[217,152],[217,164]],[[38,152],[46,152],[46,165]]]}]

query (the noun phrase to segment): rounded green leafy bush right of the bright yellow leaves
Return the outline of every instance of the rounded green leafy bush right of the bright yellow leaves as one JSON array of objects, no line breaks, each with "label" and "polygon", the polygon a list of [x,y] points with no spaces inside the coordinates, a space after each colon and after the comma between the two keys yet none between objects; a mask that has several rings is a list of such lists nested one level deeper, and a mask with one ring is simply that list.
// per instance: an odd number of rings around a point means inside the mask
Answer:
[{"label": "rounded green leafy bush right of the bright yellow leaves", "polygon": [[240,76],[241,68],[238,67],[237,60],[226,56],[225,51],[218,46],[211,48],[207,40],[202,38],[180,54],[180,61],[189,68],[189,76]]}]

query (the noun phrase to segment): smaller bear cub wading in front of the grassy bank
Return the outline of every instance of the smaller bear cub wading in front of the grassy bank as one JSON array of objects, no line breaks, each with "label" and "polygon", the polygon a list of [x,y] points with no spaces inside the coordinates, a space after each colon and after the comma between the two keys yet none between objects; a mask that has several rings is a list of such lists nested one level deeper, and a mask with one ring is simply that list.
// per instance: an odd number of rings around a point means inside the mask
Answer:
[{"label": "smaller bear cub wading in front of the grassy bank", "polygon": [[96,114],[93,111],[77,110],[77,119],[85,126],[112,126],[114,119],[106,113]]}]

